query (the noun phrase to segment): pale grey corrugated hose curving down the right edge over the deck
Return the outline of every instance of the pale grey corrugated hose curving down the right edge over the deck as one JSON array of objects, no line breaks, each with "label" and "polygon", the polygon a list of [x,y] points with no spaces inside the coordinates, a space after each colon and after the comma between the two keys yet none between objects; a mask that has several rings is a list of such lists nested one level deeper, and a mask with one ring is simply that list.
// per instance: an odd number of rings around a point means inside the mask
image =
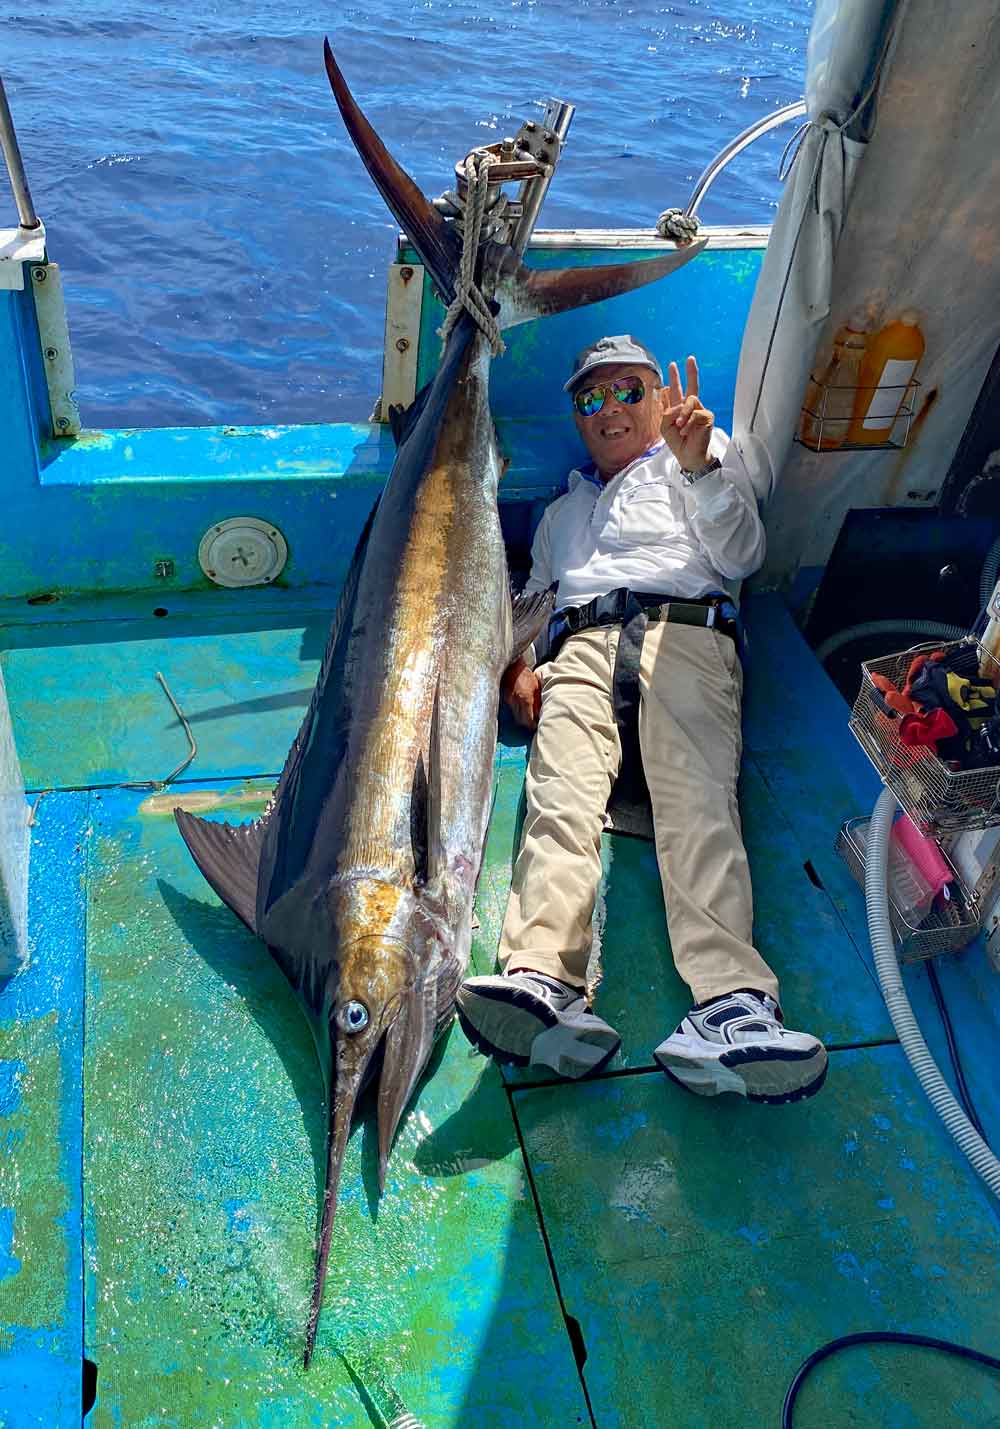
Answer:
[{"label": "pale grey corrugated hose curving down the right edge over the deck", "polygon": [[883,790],[871,813],[871,822],[864,840],[864,900],[869,910],[869,936],[874,953],[879,985],[886,999],[889,1016],[893,1019],[900,1045],[910,1059],[920,1086],[957,1142],[970,1165],[983,1177],[994,1196],[1000,1198],[1000,1160],[993,1155],[981,1136],[961,1110],[949,1090],[947,1082],[927,1050],[927,1043],[913,1016],[910,999],[903,987],[893,927],[889,922],[889,835],[896,815],[896,799],[889,789]]}]

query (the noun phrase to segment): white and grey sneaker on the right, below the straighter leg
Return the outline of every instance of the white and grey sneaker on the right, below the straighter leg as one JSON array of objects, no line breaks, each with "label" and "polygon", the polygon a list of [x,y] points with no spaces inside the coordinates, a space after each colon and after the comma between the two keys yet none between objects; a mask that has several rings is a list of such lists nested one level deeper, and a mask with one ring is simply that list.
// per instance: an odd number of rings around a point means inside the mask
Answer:
[{"label": "white and grey sneaker on the right, below the straighter leg", "polygon": [[800,1102],[819,1092],[827,1072],[823,1043],[790,1032],[767,993],[746,990],[691,1007],[653,1056],[689,1092],[736,1092],[749,1102]]}]

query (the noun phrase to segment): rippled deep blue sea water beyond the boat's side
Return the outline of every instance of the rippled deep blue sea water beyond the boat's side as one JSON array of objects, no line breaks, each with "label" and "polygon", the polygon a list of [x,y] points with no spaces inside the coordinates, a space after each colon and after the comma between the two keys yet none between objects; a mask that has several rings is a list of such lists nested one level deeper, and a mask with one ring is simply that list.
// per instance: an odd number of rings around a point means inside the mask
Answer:
[{"label": "rippled deep blue sea water beyond the boat's side", "polygon": [[[543,226],[651,226],[739,130],[799,99],[810,0],[40,0],[0,73],[63,267],[89,426],[356,420],[379,392],[396,224],[346,137],[327,33],[429,194],[556,94]],[[707,223],[767,223],[789,134]],[[13,200],[0,197],[0,224]]]}]

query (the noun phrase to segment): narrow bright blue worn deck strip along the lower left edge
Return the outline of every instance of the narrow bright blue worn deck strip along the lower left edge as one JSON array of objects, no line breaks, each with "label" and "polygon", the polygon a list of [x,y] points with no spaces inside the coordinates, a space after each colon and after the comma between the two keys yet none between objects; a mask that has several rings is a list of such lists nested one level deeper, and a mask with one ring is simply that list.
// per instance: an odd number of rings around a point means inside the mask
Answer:
[{"label": "narrow bright blue worn deck strip along the lower left edge", "polygon": [[30,962],[0,980],[0,1423],[80,1422],[87,795],[43,800]]}]

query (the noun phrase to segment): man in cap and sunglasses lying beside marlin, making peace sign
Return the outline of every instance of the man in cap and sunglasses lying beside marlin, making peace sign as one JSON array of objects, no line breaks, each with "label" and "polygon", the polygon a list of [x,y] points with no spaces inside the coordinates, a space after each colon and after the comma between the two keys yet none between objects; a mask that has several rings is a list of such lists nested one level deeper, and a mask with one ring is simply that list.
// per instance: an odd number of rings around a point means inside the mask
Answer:
[{"label": "man in cap and sunglasses lying beside marlin, making peace sign", "polygon": [[546,510],[527,589],[556,584],[567,614],[550,630],[573,633],[543,647],[537,669],[516,662],[504,676],[514,716],[537,732],[501,975],[464,982],[461,1026],[500,1062],[567,1077],[599,1070],[619,1047],[589,1006],[586,973],[604,812],[629,743],[616,709],[631,670],[670,945],[694,997],[654,1056],[704,1096],[799,1100],[820,1089],[826,1050],[784,1027],[777,979],[751,943],[736,799],[741,667],[724,583],[764,556],[753,490],[699,400],[693,357],[687,390],[676,363],[664,386],[634,337],[601,337],[564,390],[591,464]]}]

